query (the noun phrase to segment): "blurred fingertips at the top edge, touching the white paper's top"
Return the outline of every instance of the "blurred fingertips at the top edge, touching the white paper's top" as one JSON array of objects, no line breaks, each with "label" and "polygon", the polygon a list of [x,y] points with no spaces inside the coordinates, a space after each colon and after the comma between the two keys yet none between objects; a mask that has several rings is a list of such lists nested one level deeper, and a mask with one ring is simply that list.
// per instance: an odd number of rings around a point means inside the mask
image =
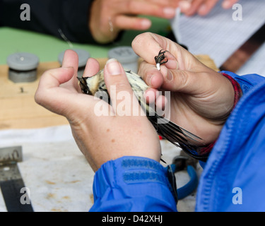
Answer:
[{"label": "blurred fingertips at the top edge, touching the white paper's top", "polygon": [[[179,7],[186,16],[198,13],[201,16],[208,14],[219,0],[180,0]],[[222,6],[225,9],[231,8],[239,0],[223,0]]]}]

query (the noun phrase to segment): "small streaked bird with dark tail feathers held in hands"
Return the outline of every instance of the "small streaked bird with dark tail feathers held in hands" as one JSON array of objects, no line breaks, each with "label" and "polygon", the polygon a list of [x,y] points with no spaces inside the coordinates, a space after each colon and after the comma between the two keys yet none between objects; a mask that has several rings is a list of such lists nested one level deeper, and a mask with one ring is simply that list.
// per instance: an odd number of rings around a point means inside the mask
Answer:
[{"label": "small streaked bird with dark tail feathers held in hands", "polygon": [[[165,52],[166,51],[160,50],[158,56],[155,57],[155,63],[158,70],[160,70],[161,64],[165,64],[167,62]],[[153,126],[155,127],[158,135],[167,139],[167,141],[170,141],[177,147],[182,148],[182,150],[184,150],[184,152],[188,155],[191,155],[196,159],[206,161],[208,156],[199,155],[199,146],[194,145],[190,142],[191,140],[193,140],[198,144],[202,144],[202,139],[199,138],[199,136],[194,135],[193,133],[187,131],[186,129],[183,129],[172,121],[166,119],[165,117],[158,115],[158,113],[155,112],[155,109],[148,105],[143,97],[145,90],[150,87],[146,85],[141,76],[126,69],[125,72],[131,88],[134,91],[134,95],[136,95],[143,111],[146,112],[146,117],[149,119],[149,121],[151,121],[151,124],[153,124]],[[78,81],[80,82],[79,85],[81,86],[82,92],[85,94],[95,95],[98,91],[104,91],[107,93],[107,87],[104,81],[104,70],[99,71],[91,77],[78,77]],[[110,95],[108,93],[107,95],[110,104]]]}]

